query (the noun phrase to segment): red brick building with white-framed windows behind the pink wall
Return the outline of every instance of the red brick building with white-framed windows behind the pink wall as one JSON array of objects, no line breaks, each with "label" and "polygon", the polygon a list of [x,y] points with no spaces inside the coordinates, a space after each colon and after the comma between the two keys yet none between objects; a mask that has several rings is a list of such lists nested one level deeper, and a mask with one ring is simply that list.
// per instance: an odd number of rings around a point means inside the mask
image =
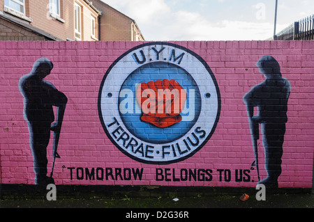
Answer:
[{"label": "red brick building with white-framed windows behind the pink wall", "polygon": [[144,40],[135,21],[100,0],[0,0],[0,40]]}]

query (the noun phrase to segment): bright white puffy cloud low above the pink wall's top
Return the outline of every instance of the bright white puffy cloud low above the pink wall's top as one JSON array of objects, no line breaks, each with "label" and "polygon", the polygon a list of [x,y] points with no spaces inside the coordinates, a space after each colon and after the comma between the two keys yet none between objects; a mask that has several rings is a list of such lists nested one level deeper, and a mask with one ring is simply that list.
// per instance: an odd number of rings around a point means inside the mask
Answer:
[{"label": "bright white puffy cloud low above the pink wall's top", "polygon": [[[285,25],[278,25],[278,29]],[[266,40],[274,32],[274,24],[269,22],[242,22],[222,20],[210,22],[200,13],[179,11],[172,13],[171,22],[167,26],[159,26],[158,34],[149,40]],[[258,36],[258,37],[256,37]],[[156,39],[157,38],[157,39]]]}]

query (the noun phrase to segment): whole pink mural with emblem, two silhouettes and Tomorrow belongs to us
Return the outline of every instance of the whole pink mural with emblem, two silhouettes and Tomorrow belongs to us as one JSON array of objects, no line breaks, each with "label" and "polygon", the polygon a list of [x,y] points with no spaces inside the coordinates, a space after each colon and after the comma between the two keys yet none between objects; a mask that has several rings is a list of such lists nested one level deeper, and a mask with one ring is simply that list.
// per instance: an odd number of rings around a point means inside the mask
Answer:
[{"label": "whole pink mural with emblem, two silhouettes and Tomorrow belongs to us", "polygon": [[3,184],[312,186],[312,42],[13,43]]}]

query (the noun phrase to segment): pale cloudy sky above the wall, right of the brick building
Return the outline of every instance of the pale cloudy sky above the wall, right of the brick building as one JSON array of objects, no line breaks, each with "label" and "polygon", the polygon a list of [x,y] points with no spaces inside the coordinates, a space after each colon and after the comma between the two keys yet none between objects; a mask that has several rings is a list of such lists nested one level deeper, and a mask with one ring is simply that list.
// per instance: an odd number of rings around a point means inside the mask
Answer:
[{"label": "pale cloudy sky above the wall, right of the brick building", "polygon": [[[91,0],[92,1],[92,0]],[[102,0],[135,19],[145,40],[267,40],[275,0]],[[314,0],[278,0],[276,33],[314,14]]]}]

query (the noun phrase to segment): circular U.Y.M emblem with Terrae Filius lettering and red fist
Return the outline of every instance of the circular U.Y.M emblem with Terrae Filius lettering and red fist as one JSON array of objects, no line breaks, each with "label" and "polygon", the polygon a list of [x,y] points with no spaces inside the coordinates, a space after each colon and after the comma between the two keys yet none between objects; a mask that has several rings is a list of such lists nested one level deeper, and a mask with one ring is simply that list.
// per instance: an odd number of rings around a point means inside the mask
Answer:
[{"label": "circular U.Y.M emblem with Terrae Filius lettering and red fist", "polygon": [[169,42],[149,42],[112,63],[100,85],[98,112],[108,138],[128,157],[171,164],[209,141],[220,93],[200,56]]}]

